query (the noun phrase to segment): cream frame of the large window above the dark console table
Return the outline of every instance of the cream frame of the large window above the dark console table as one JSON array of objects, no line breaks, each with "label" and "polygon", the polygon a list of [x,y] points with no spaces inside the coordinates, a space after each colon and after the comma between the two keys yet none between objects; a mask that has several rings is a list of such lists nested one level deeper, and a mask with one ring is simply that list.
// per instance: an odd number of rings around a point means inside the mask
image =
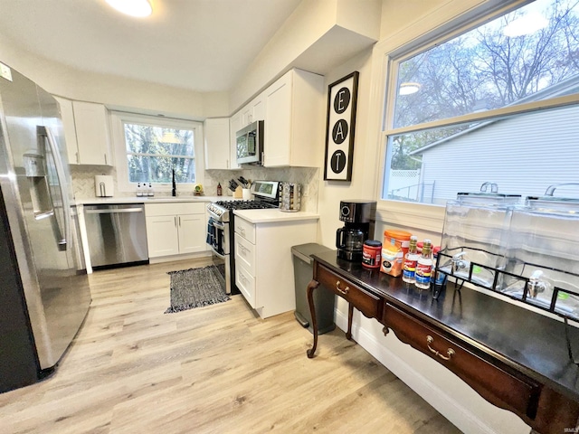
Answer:
[{"label": "cream frame of the large window above the dark console table", "polygon": [[[579,103],[579,95],[574,94],[565,97],[556,97],[543,101],[523,103],[514,107],[490,109],[479,113],[470,113],[455,118],[432,121],[419,124],[420,127],[392,127],[394,122],[394,101],[396,96],[398,62],[408,59],[413,55],[424,52],[433,45],[447,42],[461,33],[485,24],[500,14],[506,14],[518,7],[532,3],[529,0],[498,1],[489,0],[480,2],[477,0],[455,1],[451,5],[445,5],[443,9],[428,14],[412,26],[404,29],[404,32],[396,33],[391,38],[375,45],[373,80],[375,93],[373,95],[375,113],[380,118],[375,120],[378,131],[379,163],[376,170],[375,197],[378,203],[377,214],[382,221],[400,224],[405,227],[420,228],[424,231],[441,233],[444,221],[445,208],[438,204],[410,203],[383,199],[385,165],[387,163],[388,137],[398,134],[430,129],[432,127],[445,127],[470,121],[490,120],[507,115],[516,115],[532,112],[538,109],[565,107]],[[422,31],[420,29],[428,29]]]}]

